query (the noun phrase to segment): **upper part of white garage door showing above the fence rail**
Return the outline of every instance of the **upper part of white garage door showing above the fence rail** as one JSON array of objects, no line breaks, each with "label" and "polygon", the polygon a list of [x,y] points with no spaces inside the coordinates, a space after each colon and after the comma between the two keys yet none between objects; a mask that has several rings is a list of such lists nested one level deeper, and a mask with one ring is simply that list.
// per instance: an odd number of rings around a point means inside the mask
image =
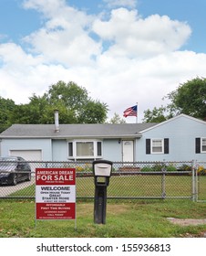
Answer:
[{"label": "upper part of white garage door showing above the fence rail", "polygon": [[41,150],[10,150],[10,155],[21,156],[26,161],[41,161],[42,151]]}]

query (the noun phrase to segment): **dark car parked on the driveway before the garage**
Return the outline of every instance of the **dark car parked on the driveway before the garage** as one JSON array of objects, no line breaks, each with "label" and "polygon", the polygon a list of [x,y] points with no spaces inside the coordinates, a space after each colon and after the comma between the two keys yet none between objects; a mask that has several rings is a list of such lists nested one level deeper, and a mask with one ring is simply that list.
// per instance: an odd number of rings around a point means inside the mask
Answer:
[{"label": "dark car parked on the driveway before the garage", "polygon": [[31,180],[31,167],[20,156],[0,157],[0,184],[16,185]]}]

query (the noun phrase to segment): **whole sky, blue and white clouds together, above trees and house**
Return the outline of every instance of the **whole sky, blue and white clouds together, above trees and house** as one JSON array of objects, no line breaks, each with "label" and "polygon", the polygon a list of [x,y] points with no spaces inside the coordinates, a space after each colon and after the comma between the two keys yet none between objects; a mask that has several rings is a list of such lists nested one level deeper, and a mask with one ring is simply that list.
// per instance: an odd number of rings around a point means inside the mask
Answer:
[{"label": "whole sky, blue and white clouds together, above trees and house", "polygon": [[73,80],[108,117],[138,101],[141,119],[205,77],[205,10],[204,0],[0,0],[0,96],[25,103]]}]

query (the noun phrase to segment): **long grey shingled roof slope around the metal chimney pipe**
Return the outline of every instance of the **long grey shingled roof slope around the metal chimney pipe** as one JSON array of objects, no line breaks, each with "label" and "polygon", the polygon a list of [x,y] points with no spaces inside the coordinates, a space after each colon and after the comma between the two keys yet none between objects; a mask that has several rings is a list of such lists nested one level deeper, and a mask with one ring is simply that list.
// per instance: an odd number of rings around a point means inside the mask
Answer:
[{"label": "long grey shingled roof slope around the metal chimney pipe", "polygon": [[0,138],[137,138],[157,123],[13,124]]}]

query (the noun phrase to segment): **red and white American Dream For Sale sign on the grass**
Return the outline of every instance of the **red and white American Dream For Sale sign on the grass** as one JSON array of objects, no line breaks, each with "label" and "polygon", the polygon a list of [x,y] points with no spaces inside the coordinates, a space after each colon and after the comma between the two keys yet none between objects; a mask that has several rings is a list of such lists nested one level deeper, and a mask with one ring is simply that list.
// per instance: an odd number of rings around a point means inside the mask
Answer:
[{"label": "red and white American Dream For Sale sign on the grass", "polygon": [[76,219],[75,168],[36,168],[36,219]]}]

